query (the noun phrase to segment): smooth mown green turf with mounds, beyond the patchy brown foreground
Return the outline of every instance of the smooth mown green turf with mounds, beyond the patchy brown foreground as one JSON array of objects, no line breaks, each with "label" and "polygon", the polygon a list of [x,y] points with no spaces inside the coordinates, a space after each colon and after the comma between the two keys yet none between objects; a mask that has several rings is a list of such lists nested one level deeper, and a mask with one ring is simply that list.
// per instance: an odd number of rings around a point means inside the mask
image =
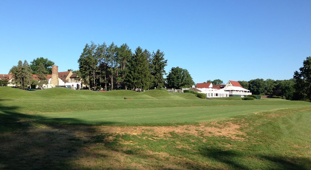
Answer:
[{"label": "smooth mown green turf with mounds, beyond the patchy brown foreground", "polygon": [[[0,88],[2,105],[38,121],[91,125],[174,125],[223,120],[236,115],[281,108],[310,107],[311,103],[264,99],[254,101],[204,100],[188,93],[148,90],[99,92],[51,88],[24,91]],[[132,98],[124,100],[123,98]],[[11,98],[11,99],[8,99]]]}]

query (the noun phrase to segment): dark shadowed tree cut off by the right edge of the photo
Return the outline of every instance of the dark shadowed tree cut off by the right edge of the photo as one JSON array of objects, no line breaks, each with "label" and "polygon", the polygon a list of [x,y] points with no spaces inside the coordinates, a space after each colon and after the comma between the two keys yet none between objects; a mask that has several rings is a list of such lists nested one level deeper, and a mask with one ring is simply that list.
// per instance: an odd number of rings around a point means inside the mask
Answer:
[{"label": "dark shadowed tree cut off by the right edge of the photo", "polygon": [[304,60],[303,66],[299,68],[299,72],[294,72],[296,81],[295,99],[311,101],[311,57]]}]

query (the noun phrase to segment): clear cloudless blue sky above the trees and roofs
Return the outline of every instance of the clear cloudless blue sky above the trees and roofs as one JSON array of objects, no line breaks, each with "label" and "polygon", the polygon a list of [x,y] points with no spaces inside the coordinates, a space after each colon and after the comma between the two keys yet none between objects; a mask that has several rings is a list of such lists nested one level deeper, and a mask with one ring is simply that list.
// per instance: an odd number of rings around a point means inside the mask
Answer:
[{"label": "clear cloudless blue sky above the trees and roofs", "polygon": [[195,83],[284,80],[311,55],[311,1],[0,1],[0,73],[44,57],[78,69],[86,45],[160,49]]}]

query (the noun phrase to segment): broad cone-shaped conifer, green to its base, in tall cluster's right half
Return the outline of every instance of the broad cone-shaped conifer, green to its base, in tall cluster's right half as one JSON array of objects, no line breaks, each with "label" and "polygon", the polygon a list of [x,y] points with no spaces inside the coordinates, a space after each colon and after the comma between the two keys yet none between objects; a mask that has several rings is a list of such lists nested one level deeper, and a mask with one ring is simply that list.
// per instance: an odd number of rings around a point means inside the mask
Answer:
[{"label": "broad cone-shaped conifer, green to its base, in tall cluster's right half", "polygon": [[151,85],[151,71],[146,55],[141,47],[137,47],[135,54],[128,60],[126,83],[131,89],[149,89]]}]

